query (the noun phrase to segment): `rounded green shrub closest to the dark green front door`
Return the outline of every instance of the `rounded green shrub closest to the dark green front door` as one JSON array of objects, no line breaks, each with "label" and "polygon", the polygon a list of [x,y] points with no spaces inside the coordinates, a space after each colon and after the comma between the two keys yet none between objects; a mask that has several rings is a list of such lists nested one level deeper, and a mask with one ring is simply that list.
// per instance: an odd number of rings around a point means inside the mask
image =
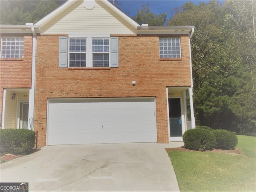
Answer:
[{"label": "rounded green shrub closest to the dark green front door", "polygon": [[216,145],[214,134],[206,129],[187,130],[182,138],[185,148],[190,150],[212,150]]}]

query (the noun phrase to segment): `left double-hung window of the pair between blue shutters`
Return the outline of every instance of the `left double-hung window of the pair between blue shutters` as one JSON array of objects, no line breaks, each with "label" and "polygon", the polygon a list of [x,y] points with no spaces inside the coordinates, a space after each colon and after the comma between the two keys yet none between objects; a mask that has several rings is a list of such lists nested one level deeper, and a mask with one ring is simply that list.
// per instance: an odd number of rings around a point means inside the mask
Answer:
[{"label": "left double-hung window of the pair between blue shutters", "polygon": [[86,38],[69,39],[69,67],[86,67]]}]

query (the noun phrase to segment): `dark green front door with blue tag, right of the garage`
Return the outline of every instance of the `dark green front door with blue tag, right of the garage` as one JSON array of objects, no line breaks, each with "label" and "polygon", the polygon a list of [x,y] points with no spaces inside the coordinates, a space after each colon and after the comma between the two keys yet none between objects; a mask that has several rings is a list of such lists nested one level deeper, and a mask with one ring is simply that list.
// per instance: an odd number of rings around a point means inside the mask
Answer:
[{"label": "dark green front door with blue tag, right of the garage", "polygon": [[180,98],[169,98],[170,136],[182,137]]}]

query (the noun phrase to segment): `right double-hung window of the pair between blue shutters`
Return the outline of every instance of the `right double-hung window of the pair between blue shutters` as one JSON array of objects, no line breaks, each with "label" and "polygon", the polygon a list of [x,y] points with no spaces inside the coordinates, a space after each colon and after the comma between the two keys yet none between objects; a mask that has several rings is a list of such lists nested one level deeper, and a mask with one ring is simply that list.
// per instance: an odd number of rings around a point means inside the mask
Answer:
[{"label": "right double-hung window of the pair between blue shutters", "polygon": [[109,67],[109,39],[92,39],[92,67]]}]

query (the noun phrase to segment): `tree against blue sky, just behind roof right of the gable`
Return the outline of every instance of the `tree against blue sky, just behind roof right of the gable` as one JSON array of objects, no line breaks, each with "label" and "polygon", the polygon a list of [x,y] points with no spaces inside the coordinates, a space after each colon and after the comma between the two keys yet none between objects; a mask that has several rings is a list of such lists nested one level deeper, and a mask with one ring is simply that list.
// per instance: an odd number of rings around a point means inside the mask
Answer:
[{"label": "tree against blue sky, just behind roof right of the gable", "polygon": [[142,5],[135,17],[132,17],[138,24],[148,24],[149,26],[162,26],[166,24],[167,13],[156,15],[150,12],[149,4]]}]

